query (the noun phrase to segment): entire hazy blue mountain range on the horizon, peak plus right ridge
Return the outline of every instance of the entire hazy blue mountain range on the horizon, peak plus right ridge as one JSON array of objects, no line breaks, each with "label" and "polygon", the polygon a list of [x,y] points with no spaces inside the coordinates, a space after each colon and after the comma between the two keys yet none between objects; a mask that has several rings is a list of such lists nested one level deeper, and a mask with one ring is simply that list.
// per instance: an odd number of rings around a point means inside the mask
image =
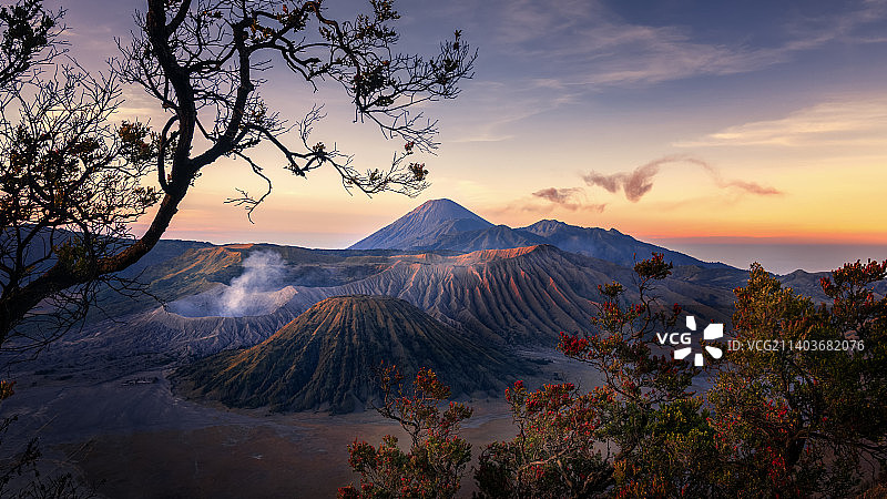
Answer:
[{"label": "entire hazy blue mountain range on the horizon, peak plus right ridge", "polygon": [[727,268],[721,263],[702,262],[683,253],[643,243],[615,228],[578,227],[554,220],[539,221],[522,228],[492,225],[450,200],[428,201],[350,248],[469,253],[539,244],[550,244],[623,266],[632,266],[635,261],[649,258],[652,252],[657,252],[664,253],[674,265]]}]

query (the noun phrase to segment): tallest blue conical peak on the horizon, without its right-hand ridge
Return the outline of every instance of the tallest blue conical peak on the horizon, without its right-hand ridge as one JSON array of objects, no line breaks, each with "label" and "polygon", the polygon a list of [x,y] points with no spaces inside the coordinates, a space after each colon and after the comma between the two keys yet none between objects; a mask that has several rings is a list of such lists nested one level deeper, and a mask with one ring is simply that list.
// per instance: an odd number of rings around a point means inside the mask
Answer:
[{"label": "tallest blue conical peak on the horizon, without its right-hand ridge", "polygon": [[409,249],[434,245],[441,236],[492,226],[450,200],[431,200],[348,249]]}]

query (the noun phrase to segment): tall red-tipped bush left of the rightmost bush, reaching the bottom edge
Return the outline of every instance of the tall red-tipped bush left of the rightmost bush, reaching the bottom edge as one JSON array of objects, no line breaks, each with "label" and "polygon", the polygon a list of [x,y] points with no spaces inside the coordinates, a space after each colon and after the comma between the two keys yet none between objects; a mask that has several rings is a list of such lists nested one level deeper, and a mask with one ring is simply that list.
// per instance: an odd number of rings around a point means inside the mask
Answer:
[{"label": "tall red-tipped bush left of the rightmost bush, reaching the bottom edge", "polygon": [[[696,370],[654,355],[656,330],[673,327],[681,308],[651,294],[671,274],[661,254],[639,262],[638,302],[619,283],[599,286],[597,335],[561,336],[568,357],[594,366],[601,386],[572,384],[506,393],[518,436],[487,447],[475,473],[481,497],[706,495],[696,457],[711,452],[701,401],[690,390]],[[665,454],[667,452],[667,454]]]}]

